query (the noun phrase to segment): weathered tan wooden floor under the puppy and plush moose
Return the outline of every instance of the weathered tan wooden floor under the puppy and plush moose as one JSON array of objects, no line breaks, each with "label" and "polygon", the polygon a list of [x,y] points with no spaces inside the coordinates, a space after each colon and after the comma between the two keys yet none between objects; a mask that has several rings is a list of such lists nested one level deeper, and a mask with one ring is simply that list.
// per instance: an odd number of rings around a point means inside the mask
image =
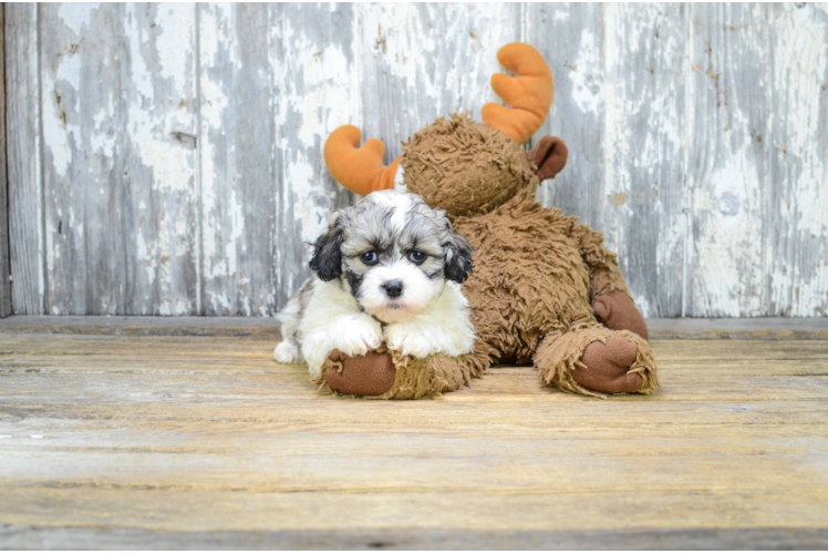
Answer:
[{"label": "weathered tan wooden floor under the puppy and plush moose", "polygon": [[650,398],[382,402],[232,329],[0,328],[0,547],[828,547],[824,330],[653,340]]}]

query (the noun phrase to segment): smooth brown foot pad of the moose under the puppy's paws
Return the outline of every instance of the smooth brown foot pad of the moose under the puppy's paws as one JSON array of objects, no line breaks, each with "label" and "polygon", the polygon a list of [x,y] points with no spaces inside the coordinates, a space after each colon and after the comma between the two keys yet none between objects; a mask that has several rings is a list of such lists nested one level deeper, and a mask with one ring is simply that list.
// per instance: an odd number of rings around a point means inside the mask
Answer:
[{"label": "smooth brown foot pad of the moose under the puppy's paws", "polygon": [[342,394],[375,397],[387,392],[394,384],[396,369],[387,352],[368,352],[365,356],[348,356],[333,350],[328,358],[342,365],[325,370],[328,386]]}]

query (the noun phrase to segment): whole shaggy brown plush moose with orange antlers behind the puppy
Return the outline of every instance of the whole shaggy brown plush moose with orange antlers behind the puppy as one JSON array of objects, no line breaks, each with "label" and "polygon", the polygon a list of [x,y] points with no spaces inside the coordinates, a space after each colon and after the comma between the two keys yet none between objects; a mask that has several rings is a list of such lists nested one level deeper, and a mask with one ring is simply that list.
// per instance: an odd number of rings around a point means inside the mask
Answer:
[{"label": "whole shaggy brown plush moose with orange antlers behind the puppy", "polygon": [[405,186],[454,217],[475,247],[463,291],[478,340],[473,355],[413,359],[380,349],[349,358],[331,352],[318,380],[346,394],[415,399],[468,386],[491,363],[534,363],[547,384],[590,396],[651,393],[658,386],[641,314],[601,233],[535,203],[538,184],[567,161],[567,146],[545,136],[520,144],[544,123],[552,75],[531,47],[507,44],[491,86],[510,107],[486,104],[484,123],[451,115],[417,132],[404,154],[382,165],[377,140],[344,126],[325,143],[333,177],[359,194]]}]

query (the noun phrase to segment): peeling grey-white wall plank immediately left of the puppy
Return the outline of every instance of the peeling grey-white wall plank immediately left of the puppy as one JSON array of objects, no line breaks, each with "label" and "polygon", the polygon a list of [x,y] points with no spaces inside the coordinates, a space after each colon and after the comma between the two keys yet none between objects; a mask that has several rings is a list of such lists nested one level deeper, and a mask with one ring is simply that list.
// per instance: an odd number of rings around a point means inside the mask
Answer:
[{"label": "peeling grey-white wall plank immediately left of the puppy", "polygon": [[[199,3],[203,314],[272,314],[278,24],[267,4]],[[278,29],[278,28],[277,28]]]}]

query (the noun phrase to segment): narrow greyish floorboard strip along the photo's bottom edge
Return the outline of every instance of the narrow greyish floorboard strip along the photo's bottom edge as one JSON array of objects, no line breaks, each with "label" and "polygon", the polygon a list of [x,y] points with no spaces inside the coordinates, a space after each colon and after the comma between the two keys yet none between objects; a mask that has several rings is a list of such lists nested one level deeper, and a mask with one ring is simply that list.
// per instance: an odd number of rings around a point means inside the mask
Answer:
[{"label": "narrow greyish floorboard strip along the photo's bottom edge", "polygon": [[663,550],[665,545],[686,550],[804,550],[821,551],[828,532],[818,529],[715,527],[682,531],[503,531],[503,530],[328,530],[314,531],[219,531],[188,533],[134,529],[60,527],[32,530],[9,525],[0,529],[0,541],[12,548],[157,550],[232,548],[234,552],[283,550]]}]

